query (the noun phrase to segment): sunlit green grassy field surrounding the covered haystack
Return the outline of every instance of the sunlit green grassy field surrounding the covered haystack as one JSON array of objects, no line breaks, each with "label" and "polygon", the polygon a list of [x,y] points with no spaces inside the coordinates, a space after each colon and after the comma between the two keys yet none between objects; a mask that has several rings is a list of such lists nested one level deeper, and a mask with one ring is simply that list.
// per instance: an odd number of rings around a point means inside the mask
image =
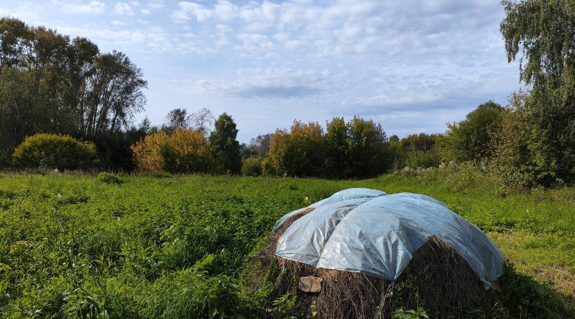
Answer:
[{"label": "sunlit green grassy field surrounding the covered haystack", "polygon": [[243,288],[242,266],[274,222],[369,187],[430,195],[488,233],[522,278],[499,316],[575,318],[573,188],[511,192],[466,166],[344,181],[120,179],[0,174],[0,317],[261,316],[265,291]]}]

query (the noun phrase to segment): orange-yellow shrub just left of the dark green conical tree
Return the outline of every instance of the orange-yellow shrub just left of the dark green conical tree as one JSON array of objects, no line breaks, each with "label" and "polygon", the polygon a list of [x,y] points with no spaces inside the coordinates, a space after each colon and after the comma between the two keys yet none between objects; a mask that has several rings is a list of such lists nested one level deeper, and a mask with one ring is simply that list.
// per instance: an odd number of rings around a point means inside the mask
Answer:
[{"label": "orange-yellow shrub just left of the dark green conical tree", "polygon": [[169,135],[160,131],[132,145],[134,162],[140,170],[152,172],[212,172],[214,160],[204,134],[176,129]]}]

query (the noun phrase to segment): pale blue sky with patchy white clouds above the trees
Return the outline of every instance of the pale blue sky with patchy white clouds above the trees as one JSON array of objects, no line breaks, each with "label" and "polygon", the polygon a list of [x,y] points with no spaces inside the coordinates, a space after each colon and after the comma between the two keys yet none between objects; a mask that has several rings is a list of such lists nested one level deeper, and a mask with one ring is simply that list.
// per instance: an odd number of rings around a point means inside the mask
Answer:
[{"label": "pale blue sky with patchy white clouds above the trees", "polygon": [[521,87],[500,0],[0,0],[0,16],[126,53],[148,81],[136,122],[208,107],[241,142],[353,116],[388,136],[444,132]]}]

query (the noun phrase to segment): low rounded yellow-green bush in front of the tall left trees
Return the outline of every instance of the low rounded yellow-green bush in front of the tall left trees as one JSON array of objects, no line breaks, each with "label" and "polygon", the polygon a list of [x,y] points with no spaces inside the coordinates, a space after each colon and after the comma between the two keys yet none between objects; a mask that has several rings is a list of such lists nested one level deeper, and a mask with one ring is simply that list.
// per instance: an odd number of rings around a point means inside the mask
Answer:
[{"label": "low rounded yellow-green bush in front of the tall left trees", "polygon": [[67,135],[39,133],[26,137],[12,155],[16,167],[59,168],[76,170],[94,164],[94,143],[79,141]]}]

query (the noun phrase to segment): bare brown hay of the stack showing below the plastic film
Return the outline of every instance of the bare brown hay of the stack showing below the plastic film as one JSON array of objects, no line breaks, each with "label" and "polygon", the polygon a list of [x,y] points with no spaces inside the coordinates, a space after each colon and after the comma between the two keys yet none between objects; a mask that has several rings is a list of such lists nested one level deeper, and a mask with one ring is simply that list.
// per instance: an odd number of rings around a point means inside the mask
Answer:
[{"label": "bare brown hay of the stack showing below the plastic film", "polygon": [[[432,237],[414,254],[407,268],[394,282],[356,272],[315,268],[275,256],[278,240],[305,209],[290,216],[273,232],[262,251],[248,262],[252,268],[252,289],[273,285],[269,318],[282,317],[278,298],[295,295],[295,305],[286,316],[302,318],[389,318],[398,309],[424,308],[429,316],[465,318],[471,311],[489,312],[489,295],[469,264],[453,248]],[[319,293],[298,289],[298,279],[323,279]],[[393,284],[393,285],[390,285]],[[274,303],[275,301],[275,303]]]}]

